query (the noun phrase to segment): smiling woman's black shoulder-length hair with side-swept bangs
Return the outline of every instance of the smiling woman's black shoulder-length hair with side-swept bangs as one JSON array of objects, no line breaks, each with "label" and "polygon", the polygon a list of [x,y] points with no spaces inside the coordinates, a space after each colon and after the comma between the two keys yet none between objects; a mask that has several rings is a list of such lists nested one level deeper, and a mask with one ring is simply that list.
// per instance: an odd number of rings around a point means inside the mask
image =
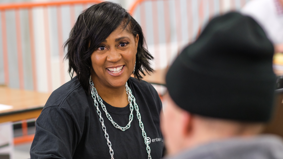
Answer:
[{"label": "smiling woman's black shoulder-length hair with side-swept bangs", "polygon": [[87,8],[78,16],[78,20],[64,44],[64,50],[67,48],[65,60],[69,61],[69,74],[73,78],[74,72],[76,72],[80,84],[87,94],[90,94],[91,54],[120,25],[131,32],[133,36],[139,35],[134,77],[140,80],[145,76],[145,72],[148,74],[154,72],[150,65],[153,56],[147,50],[138,22],[117,3],[98,3]]}]

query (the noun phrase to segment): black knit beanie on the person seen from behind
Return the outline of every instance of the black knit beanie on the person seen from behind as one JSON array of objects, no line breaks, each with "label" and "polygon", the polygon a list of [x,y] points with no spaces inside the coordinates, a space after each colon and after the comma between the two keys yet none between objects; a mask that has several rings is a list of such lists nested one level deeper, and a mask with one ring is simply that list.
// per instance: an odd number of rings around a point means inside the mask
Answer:
[{"label": "black knit beanie on the person seen from behind", "polygon": [[212,19],[166,75],[171,98],[193,114],[266,122],[273,110],[273,44],[252,18]]}]

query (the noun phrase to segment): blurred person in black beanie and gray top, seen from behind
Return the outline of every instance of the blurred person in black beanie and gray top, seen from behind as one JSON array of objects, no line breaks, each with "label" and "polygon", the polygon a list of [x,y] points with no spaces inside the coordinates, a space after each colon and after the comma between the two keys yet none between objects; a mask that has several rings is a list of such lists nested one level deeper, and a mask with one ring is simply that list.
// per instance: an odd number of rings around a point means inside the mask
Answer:
[{"label": "blurred person in black beanie and gray top, seen from behind", "polygon": [[167,158],[283,159],[282,139],[259,135],[273,113],[273,53],[252,18],[213,18],[166,75]]}]

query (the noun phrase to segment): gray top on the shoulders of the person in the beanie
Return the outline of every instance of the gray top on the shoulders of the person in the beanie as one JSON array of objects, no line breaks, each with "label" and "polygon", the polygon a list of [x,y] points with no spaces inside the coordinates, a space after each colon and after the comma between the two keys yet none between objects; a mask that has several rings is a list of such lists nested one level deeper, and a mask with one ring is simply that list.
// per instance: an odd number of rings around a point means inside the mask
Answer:
[{"label": "gray top on the shoulders of the person in the beanie", "polygon": [[283,159],[282,138],[274,135],[215,141],[164,159]]}]

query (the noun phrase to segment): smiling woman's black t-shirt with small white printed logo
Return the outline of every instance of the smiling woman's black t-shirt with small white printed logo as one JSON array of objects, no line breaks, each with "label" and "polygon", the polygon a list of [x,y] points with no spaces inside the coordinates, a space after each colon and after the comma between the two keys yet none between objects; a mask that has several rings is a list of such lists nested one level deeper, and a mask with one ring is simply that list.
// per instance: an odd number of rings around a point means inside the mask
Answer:
[{"label": "smiling woman's black t-shirt with small white printed logo", "polygon": [[[163,138],[159,128],[162,104],[156,90],[145,81],[128,80],[136,98],[141,121],[148,137],[152,159],[162,157]],[[99,103],[99,102],[98,102]],[[113,121],[126,126],[130,108],[117,108],[103,101]],[[146,145],[141,133],[136,110],[133,120],[125,131],[115,128],[106,117],[100,103],[115,159],[147,159]],[[47,100],[36,123],[36,132],[31,145],[31,159],[34,158],[80,158],[109,159],[109,147],[94,106],[91,95],[87,95],[76,77],[55,90]]]}]

